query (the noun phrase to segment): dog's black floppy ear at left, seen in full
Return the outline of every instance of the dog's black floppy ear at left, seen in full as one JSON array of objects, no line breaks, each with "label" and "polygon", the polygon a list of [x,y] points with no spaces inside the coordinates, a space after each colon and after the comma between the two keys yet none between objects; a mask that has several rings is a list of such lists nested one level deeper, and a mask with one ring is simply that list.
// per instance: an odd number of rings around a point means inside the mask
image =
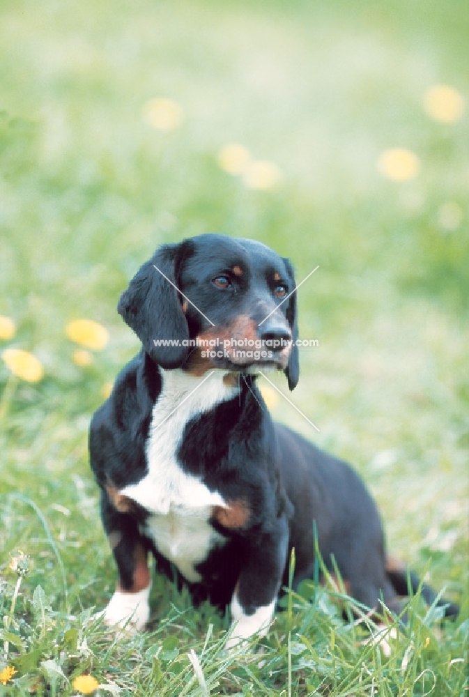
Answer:
[{"label": "dog's black floppy ear at left, seen in full", "polygon": [[[181,243],[160,247],[134,275],[117,306],[118,313],[139,337],[144,351],[163,368],[180,367],[188,353],[187,345],[183,346],[182,342],[189,339],[189,328],[181,305],[182,296],[174,287],[178,287],[177,268],[187,251],[185,246]],[[164,340],[177,341],[178,346],[155,346],[155,342]]]}]

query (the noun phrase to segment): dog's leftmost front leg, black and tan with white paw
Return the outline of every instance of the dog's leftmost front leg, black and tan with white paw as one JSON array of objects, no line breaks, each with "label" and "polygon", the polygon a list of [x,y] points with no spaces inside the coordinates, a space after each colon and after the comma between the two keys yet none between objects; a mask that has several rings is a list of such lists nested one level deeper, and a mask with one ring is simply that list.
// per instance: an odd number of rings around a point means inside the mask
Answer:
[{"label": "dog's leftmost front leg, black and tan with white paw", "polygon": [[106,491],[102,491],[101,514],[118,570],[116,591],[102,616],[108,625],[144,629],[150,616],[148,543],[136,519],[116,510]]}]

